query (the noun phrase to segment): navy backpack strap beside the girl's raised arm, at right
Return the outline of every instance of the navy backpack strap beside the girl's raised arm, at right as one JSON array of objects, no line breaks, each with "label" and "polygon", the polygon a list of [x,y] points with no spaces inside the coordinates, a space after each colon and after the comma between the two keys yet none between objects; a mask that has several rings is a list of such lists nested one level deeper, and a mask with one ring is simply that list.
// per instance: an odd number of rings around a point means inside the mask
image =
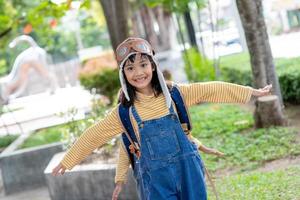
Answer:
[{"label": "navy backpack strap beside the girl's raised arm, at right", "polygon": [[192,124],[188,112],[188,108],[186,107],[183,96],[177,85],[173,85],[170,90],[171,97],[175,103],[177,114],[179,117],[179,121],[183,126],[184,131],[190,132],[192,130]]}]

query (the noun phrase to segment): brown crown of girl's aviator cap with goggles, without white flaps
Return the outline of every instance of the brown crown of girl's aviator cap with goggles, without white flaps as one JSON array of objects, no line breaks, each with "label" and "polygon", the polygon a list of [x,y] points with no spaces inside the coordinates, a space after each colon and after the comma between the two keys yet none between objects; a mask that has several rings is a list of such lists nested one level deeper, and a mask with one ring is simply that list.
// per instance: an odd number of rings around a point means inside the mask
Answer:
[{"label": "brown crown of girl's aviator cap with goggles, without white flaps", "polygon": [[145,53],[153,56],[151,45],[142,38],[128,38],[122,42],[116,49],[116,59],[120,64],[132,52]]}]

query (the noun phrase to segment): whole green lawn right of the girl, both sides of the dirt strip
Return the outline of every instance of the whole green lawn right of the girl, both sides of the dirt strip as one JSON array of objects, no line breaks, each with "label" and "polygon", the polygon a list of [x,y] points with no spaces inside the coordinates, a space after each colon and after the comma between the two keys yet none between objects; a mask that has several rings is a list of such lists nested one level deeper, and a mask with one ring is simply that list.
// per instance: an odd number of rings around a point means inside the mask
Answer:
[{"label": "whole green lawn right of the girl, both sides of the dirt strip", "polygon": [[[206,146],[223,151],[218,158],[201,154],[209,170],[237,169],[216,179],[221,200],[300,200],[300,167],[255,171],[263,163],[300,155],[296,130],[273,127],[254,130],[252,113],[237,105],[203,104],[190,109],[193,135]],[[285,166],[288,167],[288,166]],[[207,184],[209,182],[207,181]],[[211,187],[208,196],[214,200]]]}]

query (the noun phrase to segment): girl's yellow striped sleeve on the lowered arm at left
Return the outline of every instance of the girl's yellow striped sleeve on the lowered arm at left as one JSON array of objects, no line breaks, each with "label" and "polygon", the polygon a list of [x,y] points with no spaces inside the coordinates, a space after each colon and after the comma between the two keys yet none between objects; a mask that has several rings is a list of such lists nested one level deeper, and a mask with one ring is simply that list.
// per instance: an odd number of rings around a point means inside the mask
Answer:
[{"label": "girl's yellow striped sleeve on the lowered arm at left", "polygon": [[71,170],[96,148],[104,145],[115,135],[123,132],[118,119],[118,109],[114,108],[103,120],[86,129],[64,156],[61,164]]}]

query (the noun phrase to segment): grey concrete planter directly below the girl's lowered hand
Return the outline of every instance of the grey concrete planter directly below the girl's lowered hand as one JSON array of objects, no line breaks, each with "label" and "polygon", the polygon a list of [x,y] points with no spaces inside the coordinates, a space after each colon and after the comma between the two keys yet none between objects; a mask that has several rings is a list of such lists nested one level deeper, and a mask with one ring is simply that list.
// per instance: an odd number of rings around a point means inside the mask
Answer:
[{"label": "grey concrete planter directly below the girl's lowered hand", "polygon": [[[115,187],[115,165],[77,165],[63,176],[54,177],[51,171],[62,159],[56,155],[45,169],[45,176],[52,200],[110,200]],[[128,181],[118,200],[137,200],[136,183],[131,170]]]}]

